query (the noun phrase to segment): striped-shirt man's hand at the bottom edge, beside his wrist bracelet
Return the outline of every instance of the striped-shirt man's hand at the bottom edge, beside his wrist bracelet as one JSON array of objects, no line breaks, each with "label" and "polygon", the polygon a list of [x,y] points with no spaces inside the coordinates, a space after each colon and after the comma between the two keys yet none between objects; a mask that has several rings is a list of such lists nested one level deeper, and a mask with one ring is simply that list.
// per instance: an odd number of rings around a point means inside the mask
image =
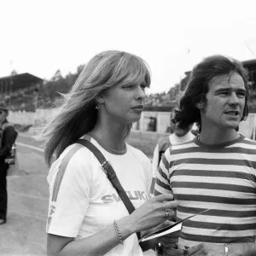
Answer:
[{"label": "striped-shirt man's hand at the bottom edge, beside his wrist bracelet", "polygon": [[184,255],[189,256],[224,256],[224,245],[214,245],[211,243],[200,243],[195,247],[189,247],[187,253]]}]

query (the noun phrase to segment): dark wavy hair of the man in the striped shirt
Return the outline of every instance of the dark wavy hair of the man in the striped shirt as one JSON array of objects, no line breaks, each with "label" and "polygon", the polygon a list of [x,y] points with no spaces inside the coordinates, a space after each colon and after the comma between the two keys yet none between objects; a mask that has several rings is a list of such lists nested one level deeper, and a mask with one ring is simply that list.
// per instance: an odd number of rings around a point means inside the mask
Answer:
[{"label": "dark wavy hair of the man in the striped shirt", "polygon": [[178,127],[187,129],[189,125],[196,123],[201,131],[201,114],[196,104],[207,101],[208,85],[214,77],[230,73],[240,74],[244,81],[246,98],[241,120],[247,119],[249,96],[247,69],[240,61],[224,55],[212,55],[197,64],[190,74],[187,88],[180,99],[180,110],[176,111],[175,119]]}]

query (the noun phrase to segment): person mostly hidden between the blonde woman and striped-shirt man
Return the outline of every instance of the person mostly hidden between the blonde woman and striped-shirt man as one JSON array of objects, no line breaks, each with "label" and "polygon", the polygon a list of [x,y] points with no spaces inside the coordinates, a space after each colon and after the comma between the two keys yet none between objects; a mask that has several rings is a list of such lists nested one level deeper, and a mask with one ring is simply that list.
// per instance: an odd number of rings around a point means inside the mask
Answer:
[{"label": "person mostly hidden between the blonde woman and striped-shirt man", "polygon": [[154,183],[155,183],[157,168],[160,164],[160,160],[163,154],[166,152],[166,149],[170,148],[172,145],[176,145],[178,143],[183,143],[183,142],[192,140],[195,137],[195,135],[192,134],[192,132],[190,131],[192,125],[189,125],[189,127],[186,129],[181,129],[177,126],[177,123],[175,121],[176,111],[177,111],[177,108],[173,108],[170,115],[170,126],[171,126],[171,131],[173,133],[168,137],[161,137],[154,148],[154,154],[153,154],[153,160],[152,160],[153,178],[152,178],[152,184],[151,184],[151,193],[153,193],[154,191]]}]

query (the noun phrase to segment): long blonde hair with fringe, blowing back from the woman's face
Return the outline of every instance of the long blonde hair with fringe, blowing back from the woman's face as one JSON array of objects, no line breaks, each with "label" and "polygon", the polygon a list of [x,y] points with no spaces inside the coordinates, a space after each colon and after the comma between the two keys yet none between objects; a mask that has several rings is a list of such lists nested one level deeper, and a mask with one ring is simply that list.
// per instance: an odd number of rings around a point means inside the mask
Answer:
[{"label": "long blonde hair with fringe, blowing back from the woman's face", "polygon": [[[127,81],[127,78],[129,81]],[[122,83],[150,84],[148,65],[137,55],[118,50],[104,51],[95,55],[79,74],[72,89],[63,95],[57,116],[44,127],[46,139],[44,158],[50,165],[56,157],[79,137],[96,125],[96,97],[108,88]]]}]

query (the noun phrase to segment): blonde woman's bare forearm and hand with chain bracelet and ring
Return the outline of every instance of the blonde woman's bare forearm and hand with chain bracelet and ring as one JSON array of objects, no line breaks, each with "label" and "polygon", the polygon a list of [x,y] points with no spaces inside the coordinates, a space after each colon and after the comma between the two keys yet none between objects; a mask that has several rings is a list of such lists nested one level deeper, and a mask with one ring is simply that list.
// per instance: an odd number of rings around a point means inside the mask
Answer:
[{"label": "blonde woman's bare forearm and hand with chain bracelet and ring", "polygon": [[[159,195],[148,200],[124,218],[117,221],[119,233],[122,240],[131,234],[141,230],[148,230],[166,221],[166,209],[177,207],[177,202],[172,201],[172,195]],[[174,212],[173,212],[174,214]],[[93,236],[81,240],[74,240],[64,236],[48,235],[47,253],[55,255],[102,255],[108,253],[113,247],[120,243],[114,224],[108,225],[105,229]]]}]

